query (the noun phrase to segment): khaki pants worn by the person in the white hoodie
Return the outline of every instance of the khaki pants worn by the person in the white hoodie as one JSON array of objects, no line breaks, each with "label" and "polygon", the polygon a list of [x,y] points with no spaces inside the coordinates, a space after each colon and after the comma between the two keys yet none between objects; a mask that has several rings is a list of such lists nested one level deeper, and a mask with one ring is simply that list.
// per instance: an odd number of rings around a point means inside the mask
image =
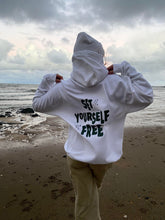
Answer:
[{"label": "khaki pants worn by the person in the white hoodie", "polygon": [[101,220],[99,188],[111,164],[88,164],[68,157],[75,190],[75,219]]}]

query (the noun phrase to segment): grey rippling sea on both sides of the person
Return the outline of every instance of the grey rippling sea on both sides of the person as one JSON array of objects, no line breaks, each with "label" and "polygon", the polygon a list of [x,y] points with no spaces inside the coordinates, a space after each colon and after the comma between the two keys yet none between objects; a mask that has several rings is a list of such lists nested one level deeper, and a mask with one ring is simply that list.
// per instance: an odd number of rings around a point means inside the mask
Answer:
[{"label": "grey rippling sea on both sides of the person", "polygon": [[[32,99],[38,85],[1,84],[0,114],[16,112],[21,108],[32,108]],[[144,110],[127,115],[126,127],[165,126],[165,86],[153,87],[154,102]]]}]

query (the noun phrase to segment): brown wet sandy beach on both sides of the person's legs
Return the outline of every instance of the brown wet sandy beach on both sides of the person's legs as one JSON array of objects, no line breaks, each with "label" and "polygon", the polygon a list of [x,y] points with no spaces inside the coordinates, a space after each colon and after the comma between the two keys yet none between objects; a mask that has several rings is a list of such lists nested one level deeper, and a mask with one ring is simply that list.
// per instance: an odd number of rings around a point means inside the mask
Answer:
[{"label": "brown wet sandy beach on both sides of the person's legs", "polygon": [[[12,118],[10,119],[12,120]],[[126,128],[100,192],[102,220],[165,219],[165,127]],[[73,220],[67,124],[47,118],[0,139],[0,220]]]}]

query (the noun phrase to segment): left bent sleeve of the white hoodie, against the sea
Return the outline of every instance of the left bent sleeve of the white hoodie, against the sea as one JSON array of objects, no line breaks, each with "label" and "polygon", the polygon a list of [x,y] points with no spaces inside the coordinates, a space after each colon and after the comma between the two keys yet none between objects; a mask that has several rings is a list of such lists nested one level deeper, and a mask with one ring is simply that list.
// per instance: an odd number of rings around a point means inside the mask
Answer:
[{"label": "left bent sleeve of the white hoodie, against the sea", "polygon": [[55,83],[56,74],[47,74],[43,77],[33,98],[33,109],[47,113],[58,108],[62,103],[61,83]]}]

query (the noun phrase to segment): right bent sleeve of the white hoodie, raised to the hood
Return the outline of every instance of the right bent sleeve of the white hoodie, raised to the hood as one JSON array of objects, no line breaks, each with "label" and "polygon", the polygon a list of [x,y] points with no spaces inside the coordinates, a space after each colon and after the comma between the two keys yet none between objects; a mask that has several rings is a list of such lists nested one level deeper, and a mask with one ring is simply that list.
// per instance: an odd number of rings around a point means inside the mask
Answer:
[{"label": "right bent sleeve of the white hoodie, raised to the hood", "polygon": [[114,73],[121,73],[116,95],[125,104],[126,113],[141,110],[153,102],[153,90],[142,74],[128,62],[114,64]]}]

